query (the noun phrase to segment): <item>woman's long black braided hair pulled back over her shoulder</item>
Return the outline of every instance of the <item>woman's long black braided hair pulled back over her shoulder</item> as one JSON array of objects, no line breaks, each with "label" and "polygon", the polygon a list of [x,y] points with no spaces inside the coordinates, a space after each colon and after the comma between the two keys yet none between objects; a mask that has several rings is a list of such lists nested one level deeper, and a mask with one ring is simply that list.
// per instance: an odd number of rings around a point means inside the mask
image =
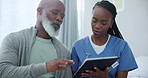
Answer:
[{"label": "woman's long black braided hair pulled back over her shoulder", "polygon": [[[108,29],[107,33],[123,39],[123,37],[122,37],[118,27],[117,27],[116,21],[115,21],[115,18],[116,18],[116,15],[117,15],[116,7],[112,3],[110,3],[109,1],[106,1],[106,0],[102,0],[101,2],[97,2],[95,4],[95,6],[101,6],[105,9],[107,9],[113,15],[114,23],[112,25],[112,28]],[[95,8],[95,6],[93,7],[93,9]]]}]

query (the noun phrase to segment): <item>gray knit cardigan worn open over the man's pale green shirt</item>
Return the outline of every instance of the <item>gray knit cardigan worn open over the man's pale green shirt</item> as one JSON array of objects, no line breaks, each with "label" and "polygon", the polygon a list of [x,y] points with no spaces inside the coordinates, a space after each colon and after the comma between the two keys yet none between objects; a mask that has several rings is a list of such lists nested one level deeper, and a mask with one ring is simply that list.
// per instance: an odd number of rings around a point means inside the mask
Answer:
[{"label": "gray knit cardigan worn open over the man's pale green shirt", "polygon": [[[37,29],[31,27],[7,35],[0,47],[0,78],[37,78],[46,74],[45,63],[29,65]],[[70,51],[56,38],[52,40],[59,59],[70,59]],[[71,67],[57,70],[55,78],[72,78]]]}]

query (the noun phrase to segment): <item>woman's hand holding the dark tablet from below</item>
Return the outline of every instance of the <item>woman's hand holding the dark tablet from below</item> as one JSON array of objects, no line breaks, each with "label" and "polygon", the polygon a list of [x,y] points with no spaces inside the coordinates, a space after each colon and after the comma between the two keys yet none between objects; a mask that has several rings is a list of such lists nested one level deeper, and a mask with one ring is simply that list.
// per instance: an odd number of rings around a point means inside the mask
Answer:
[{"label": "woman's hand holding the dark tablet from below", "polygon": [[86,73],[81,73],[81,77],[108,78],[108,67],[104,71],[99,70],[97,67],[94,67],[94,70],[86,70]]}]

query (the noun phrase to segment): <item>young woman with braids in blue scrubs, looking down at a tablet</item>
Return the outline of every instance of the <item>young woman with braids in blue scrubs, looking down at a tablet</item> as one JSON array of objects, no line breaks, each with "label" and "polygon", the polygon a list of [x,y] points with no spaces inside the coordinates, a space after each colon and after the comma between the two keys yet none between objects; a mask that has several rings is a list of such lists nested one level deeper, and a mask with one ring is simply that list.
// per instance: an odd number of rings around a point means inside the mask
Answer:
[{"label": "young woman with braids in blue scrubs, looking down at a tablet", "polygon": [[[72,60],[76,72],[83,61],[94,57],[118,56],[119,65],[108,72],[108,68],[100,71],[86,70],[82,78],[127,78],[128,72],[138,68],[128,43],[123,39],[115,22],[116,8],[109,1],[97,2],[93,7],[91,20],[91,36],[76,41],[72,47]],[[81,78],[80,77],[80,78]]]}]

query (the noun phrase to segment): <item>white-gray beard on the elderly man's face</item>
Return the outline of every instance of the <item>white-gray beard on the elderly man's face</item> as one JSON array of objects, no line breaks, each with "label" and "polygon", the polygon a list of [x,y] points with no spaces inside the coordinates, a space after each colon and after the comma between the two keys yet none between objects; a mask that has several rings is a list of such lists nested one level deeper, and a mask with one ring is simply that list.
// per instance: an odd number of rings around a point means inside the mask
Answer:
[{"label": "white-gray beard on the elderly man's face", "polygon": [[50,35],[50,37],[56,37],[59,34],[59,29],[55,29],[52,23],[46,18],[42,18],[42,25],[45,31]]}]

